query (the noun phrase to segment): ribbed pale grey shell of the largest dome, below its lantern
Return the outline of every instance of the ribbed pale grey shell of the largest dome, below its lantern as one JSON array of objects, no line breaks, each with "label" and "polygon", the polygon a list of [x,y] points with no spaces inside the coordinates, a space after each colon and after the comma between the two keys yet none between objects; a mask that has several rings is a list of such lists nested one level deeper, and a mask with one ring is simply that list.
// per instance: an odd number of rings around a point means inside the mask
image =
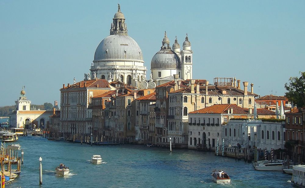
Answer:
[{"label": "ribbed pale grey shell of the largest dome, below its lantern", "polygon": [[142,51],[128,35],[109,35],[95,50],[95,61],[143,61]]}]

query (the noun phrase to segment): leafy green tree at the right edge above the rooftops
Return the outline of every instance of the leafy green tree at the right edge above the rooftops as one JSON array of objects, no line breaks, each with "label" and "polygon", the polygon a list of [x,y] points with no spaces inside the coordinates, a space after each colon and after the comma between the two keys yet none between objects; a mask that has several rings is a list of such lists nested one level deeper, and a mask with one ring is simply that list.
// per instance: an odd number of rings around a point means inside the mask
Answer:
[{"label": "leafy green tree at the right edge above the rooftops", "polygon": [[285,83],[285,89],[288,91],[285,96],[289,101],[293,101],[299,108],[305,106],[305,72],[300,72],[301,77],[290,77],[289,83]]}]

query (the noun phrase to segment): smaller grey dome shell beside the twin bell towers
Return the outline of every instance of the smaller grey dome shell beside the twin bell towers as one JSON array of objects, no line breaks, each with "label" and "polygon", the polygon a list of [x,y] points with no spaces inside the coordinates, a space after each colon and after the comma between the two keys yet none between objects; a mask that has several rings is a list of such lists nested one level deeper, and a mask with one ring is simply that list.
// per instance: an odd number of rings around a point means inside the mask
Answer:
[{"label": "smaller grey dome shell beside the twin bell towers", "polygon": [[151,69],[181,69],[181,61],[175,52],[163,49],[152,57]]}]

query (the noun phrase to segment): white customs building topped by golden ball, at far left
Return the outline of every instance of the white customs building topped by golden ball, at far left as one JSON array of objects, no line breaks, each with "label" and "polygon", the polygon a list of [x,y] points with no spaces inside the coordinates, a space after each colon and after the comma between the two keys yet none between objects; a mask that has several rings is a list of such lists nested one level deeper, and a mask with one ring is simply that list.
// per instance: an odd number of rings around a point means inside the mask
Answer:
[{"label": "white customs building topped by golden ball, at far left", "polygon": [[19,100],[15,101],[16,110],[9,115],[11,126],[26,129],[45,128],[53,111],[30,110],[31,101],[25,96],[25,91],[22,90],[20,95]]}]

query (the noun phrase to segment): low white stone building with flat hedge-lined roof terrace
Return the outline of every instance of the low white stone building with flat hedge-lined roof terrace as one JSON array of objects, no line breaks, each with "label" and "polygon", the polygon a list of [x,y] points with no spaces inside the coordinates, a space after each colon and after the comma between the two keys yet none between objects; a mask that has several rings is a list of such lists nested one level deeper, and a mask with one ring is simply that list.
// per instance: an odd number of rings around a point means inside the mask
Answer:
[{"label": "low white stone building with flat hedge-lined roof terrace", "polygon": [[243,147],[284,148],[285,122],[267,122],[262,120],[230,120],[223,126],[224,143]]}]

